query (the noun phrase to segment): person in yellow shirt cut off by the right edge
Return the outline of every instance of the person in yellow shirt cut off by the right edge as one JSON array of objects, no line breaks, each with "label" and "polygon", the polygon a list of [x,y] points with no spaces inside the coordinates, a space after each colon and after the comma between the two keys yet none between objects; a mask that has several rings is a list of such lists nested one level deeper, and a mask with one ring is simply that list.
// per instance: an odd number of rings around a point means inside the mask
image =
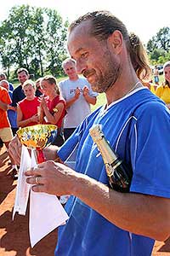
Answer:
[{"label": "person in yellow shirt cut off by the right edge", "polygon": [[156,96],[160,97],[166,103],[167,108],[170,109],[170,61],[163,65],[163,74],[165,81],[156,89]]}]

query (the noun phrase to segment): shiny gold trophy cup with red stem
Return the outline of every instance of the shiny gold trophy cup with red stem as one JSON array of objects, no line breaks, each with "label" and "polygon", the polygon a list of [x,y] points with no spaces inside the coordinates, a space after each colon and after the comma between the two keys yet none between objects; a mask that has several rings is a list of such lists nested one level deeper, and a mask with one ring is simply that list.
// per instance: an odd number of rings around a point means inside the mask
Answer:
[{"label": "shiny gold trophy cup with red stem", "polygon": [[56,125],[32,125],[17,131],[20,143],[29,149],[35,149],[37,163],[45,161],[42,149],[54,142],[57,136]]}]

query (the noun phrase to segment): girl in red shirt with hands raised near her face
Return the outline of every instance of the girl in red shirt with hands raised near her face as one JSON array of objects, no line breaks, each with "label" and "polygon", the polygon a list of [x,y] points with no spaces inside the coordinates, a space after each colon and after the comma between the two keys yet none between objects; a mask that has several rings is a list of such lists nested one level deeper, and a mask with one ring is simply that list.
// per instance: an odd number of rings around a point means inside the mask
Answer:
[{"label": "girl in red shirt with hands raised near her face", "polygon": [[41,79],[41,88],[45,96],[41,97],[40,122],[43,123],[45,120],[47,124],[57,125],[57,137],[52,144],[61,146],[64,143],[62,124],[66,113],[65,99],[59,95],[59,87],[56,79],[51,75]]}]

